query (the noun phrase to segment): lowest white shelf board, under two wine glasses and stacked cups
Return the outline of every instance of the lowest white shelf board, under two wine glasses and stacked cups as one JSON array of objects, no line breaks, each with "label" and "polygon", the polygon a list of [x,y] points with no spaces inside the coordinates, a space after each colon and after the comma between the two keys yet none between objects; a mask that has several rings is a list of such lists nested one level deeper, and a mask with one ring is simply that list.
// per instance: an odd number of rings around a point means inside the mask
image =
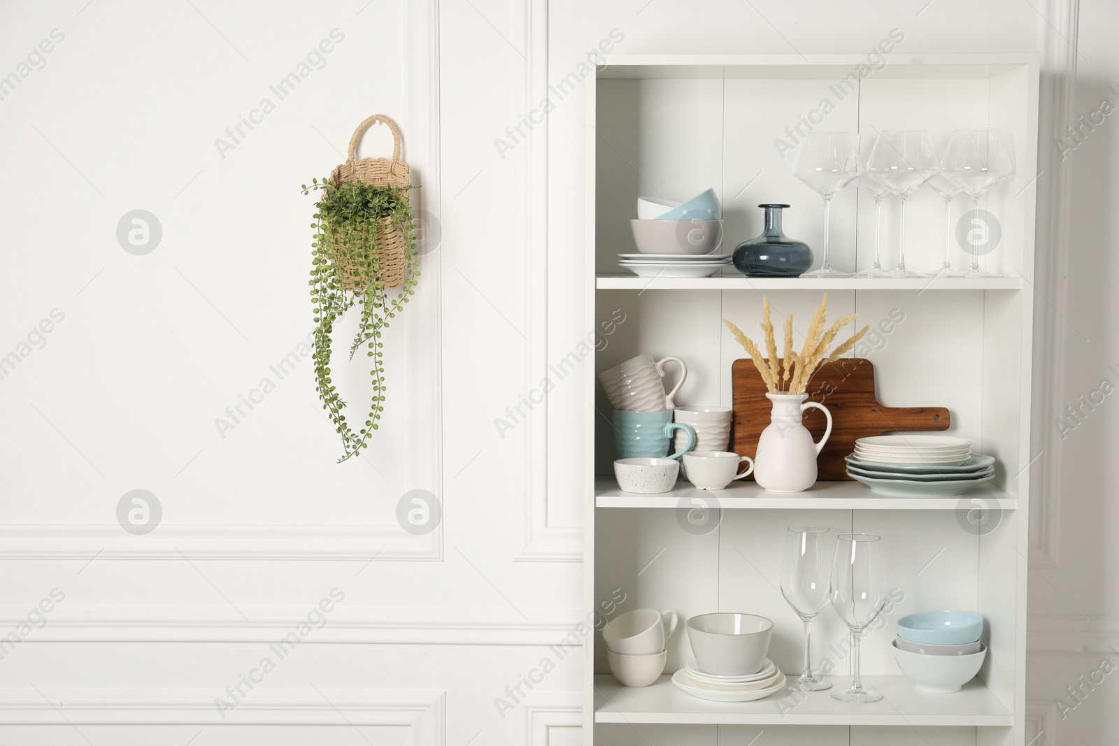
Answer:
[{"label": "lowest white shelf board, under two wine glasses and stacked cups", "polygon": [[[835,688],[847,677],[828,677]],[[867,676],[863,683],[880,691],[877,702],[854,705],[831,699],[830,690],[771,695],[753,702],[709,702],[692,697],[662,676],[650,687],[631,689],[612,676],[594,677],[595,723],[689,725],[854,725],[854,726],[1003,726],[1014,716],[978,679],[952,695],[931,695],[901,676]]]}]

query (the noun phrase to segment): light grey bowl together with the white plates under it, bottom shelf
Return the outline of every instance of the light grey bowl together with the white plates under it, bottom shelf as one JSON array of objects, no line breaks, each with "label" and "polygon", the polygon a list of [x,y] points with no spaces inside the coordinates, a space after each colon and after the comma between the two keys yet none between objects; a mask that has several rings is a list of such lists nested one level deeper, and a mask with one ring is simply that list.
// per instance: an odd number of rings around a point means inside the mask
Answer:
[{"label": "light grey bowl together with the white plates under it, bottom shelf", "polygon": [[700,614],[687,621],[695,658],[673,674],[693,697],[749,702],[784,689],[784,674],[765,658],[773,622],[756,614]]}]

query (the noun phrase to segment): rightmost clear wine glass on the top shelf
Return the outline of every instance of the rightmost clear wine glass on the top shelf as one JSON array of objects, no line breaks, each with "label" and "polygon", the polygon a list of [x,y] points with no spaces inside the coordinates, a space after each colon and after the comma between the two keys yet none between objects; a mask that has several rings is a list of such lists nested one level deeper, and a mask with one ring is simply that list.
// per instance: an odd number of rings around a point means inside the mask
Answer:
[{"label": "rightmost clear wine glass on the top shelf", "polygon": [[[957,130],[948,141],[941,170],[971,197],[976,220],[979,197],[1014,174],[1014,154],[1000,130]],[[971,252],[971,267],[965,277],[994,277],[979,268],[979,253]]]}]

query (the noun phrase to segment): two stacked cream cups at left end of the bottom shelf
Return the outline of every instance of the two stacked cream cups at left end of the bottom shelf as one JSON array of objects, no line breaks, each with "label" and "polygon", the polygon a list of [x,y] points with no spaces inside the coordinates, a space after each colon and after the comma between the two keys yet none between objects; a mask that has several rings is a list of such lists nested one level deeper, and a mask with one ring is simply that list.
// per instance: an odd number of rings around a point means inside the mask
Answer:
[{"label": "two stacked cream cups at left end of the bottom shelf", "polygon": [[666,643],[676,632],[674,611],[634,608],[602,627],[610,672],[626,687],[648,687],[665,672]]}]

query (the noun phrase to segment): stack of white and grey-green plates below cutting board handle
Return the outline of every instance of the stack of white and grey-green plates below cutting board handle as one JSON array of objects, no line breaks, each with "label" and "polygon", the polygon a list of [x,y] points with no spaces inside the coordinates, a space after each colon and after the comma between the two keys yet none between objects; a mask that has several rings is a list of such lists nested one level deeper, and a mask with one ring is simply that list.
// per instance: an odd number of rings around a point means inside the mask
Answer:
[{"label": "stack of white and grey-green plates below cutting board handle", "polygon": [[861,437],[846,461],[848,476],[895,498],[953,497],[995,478],[995,459],[971,453],[965,437]]}]

